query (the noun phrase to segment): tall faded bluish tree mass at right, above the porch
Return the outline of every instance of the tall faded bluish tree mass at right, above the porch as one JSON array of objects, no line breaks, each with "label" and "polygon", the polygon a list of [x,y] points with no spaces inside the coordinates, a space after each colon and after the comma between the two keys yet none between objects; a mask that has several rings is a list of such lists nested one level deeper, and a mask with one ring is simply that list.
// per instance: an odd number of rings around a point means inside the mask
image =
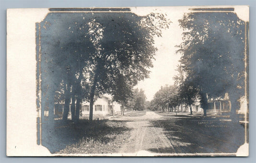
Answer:
[{"label": "tall faded bluish tree mass at right, above the porch", "polygon": [[229,93],[231,117],[244,96],[244,22],[232,12],[190,12],[179,20],[183,28],[181,53],[187,81],[201,95],[201,106],[210,98]]}]

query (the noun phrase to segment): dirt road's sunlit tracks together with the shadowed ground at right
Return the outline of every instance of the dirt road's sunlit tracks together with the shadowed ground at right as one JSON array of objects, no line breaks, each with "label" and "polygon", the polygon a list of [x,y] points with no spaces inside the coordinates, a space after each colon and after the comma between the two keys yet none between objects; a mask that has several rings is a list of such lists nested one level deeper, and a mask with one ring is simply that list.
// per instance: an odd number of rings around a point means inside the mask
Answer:
[{"label": "dirt road's sunlit tracks together with the shadowed ground at right", "polygon": [[232,156],[244,141],[241,126],[233,129],[228,122],[187,115],[147,111],[144,116],[110,120],[125,121],[132,129],[120,149],[122,156]]}]

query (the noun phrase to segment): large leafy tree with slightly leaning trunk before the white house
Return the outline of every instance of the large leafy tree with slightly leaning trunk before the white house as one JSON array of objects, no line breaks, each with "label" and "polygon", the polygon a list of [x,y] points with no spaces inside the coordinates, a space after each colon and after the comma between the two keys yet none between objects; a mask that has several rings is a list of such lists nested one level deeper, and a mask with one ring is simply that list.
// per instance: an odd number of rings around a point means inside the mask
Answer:
[{"label": "large leafy tree with slightly leaning trunk before the white house", "polygon": [[[156,24],[156,20],[162,22]],[[161,29],[167,28],[168,24],[162,14],[155,13],[144,17],[133,13],[96,15],[90,30],[98,32],[97,41],[94,42],[98,50],[91,56],[95,68],[90,88],[90,120],[93,116],[95,91],[115,95],[114,81],[120,76],[127,79],[130,86],[148,77],[147,68],[153,66],[151,60],[157,50],[154,47],[154,36],[161,36]]]}]

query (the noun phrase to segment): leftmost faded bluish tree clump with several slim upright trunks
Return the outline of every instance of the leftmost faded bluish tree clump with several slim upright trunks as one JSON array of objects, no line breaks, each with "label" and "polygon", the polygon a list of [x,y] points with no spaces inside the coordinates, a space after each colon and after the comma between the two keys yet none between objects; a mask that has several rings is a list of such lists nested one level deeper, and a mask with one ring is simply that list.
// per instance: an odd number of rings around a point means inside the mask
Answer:
[{"label": "leftmost faded bluish tree clump with several slim upright trunks", "polygon": [[[42,72],[42,110],[49,108],[52,119],[54,100],[58,85],[63,83],[64,110],[62,119],[67,120],[72,98],[72,120],[79,119],[80,101],[84,97],[81,84],[89,65],[89,55],[95,48],[85,37],[88,22],[79,13],[50,13],[40,22],[41,72]],[[76,22],[75,22],[75,21]],[[51,93],[48,93],[50,92]],[[51,95],[51,97],[49,96]],[[76,100],[75,100],[76,99]],[[76,102],[76,106],[75,106]],[[45,105],[46,104],[46,105]],[[48,105],[48,106],[47,106]]]}]

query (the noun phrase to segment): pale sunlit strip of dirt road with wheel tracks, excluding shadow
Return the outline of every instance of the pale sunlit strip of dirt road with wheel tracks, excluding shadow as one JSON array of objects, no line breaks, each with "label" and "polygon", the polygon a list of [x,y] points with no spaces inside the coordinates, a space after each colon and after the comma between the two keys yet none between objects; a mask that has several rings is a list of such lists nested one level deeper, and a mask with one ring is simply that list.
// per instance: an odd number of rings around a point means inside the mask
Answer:
[{"label": "pale sunlit strip of dirt road with wheel tracks, excluding shadow", "polygon": [[[153,111],[147,111],[146,115],[141,117],[115,118],[116,120],[127,120],[128,127],[133,129],[131,137],[127,143],[123,144],[120,153],[123,153],[124,156],[145,156],[155,155],[156,152],[163,153],[162,149],[169,149],[171,153],[175,153],[171,141],[168,140],[159,123],[156,127],[150,122],[163,118]],[[157,151],[152,152],[153,149]]]}]

